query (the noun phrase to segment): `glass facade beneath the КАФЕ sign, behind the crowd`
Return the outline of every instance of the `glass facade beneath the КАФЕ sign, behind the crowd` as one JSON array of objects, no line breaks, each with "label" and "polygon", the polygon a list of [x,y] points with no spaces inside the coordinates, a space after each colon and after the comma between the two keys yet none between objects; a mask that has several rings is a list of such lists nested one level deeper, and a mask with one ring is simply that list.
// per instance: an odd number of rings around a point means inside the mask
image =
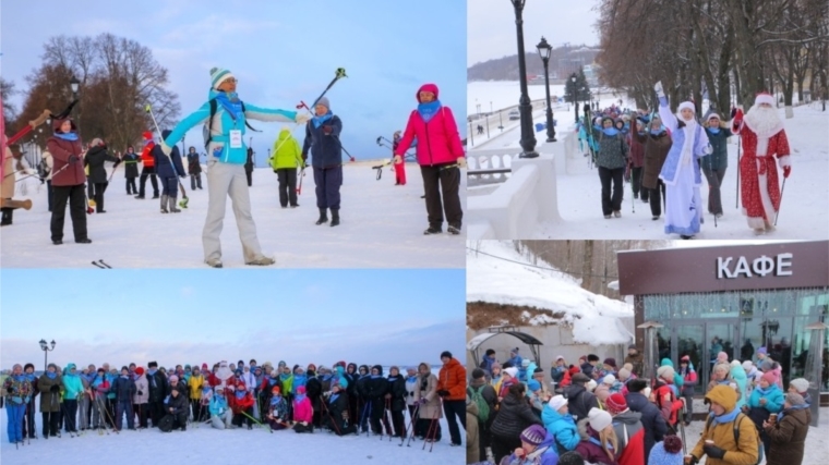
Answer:
[{"label": "glass facade beneath the \u041a\u0410\u0424\u0415 sign, behind the crowd", "polygon": [[[644,295],[646,321],[659,321],[660,358],[674,363],[689,355],[701,379],[711,362],[725,352],[729,359],[757,362],[766,347],[779,362],[783,382],[803,377],[815,321],[829,323],[829,287],[729,291]],[[829,331],[824,331],[824,369],[820,390],[829,391]]]}]

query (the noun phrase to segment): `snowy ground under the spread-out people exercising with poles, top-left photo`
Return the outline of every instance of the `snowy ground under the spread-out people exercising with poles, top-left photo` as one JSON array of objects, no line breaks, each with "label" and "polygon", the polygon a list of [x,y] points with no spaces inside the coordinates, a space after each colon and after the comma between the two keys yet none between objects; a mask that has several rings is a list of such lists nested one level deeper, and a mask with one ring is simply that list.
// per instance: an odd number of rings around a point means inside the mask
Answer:
[{"label": "snowy ground under the spread-out people exercising with poles, top-left photo", "polygon": [[[424,236],[428,227],[422,179],[417,164],[407,163],[408,183],[394,186],[386,167],[375,180],[372,166],[345,166],[343,222],[337,228],[315,225],[319,216],[313,174],[302,183],[300,207],[279,207],[276,175],[269,169],[253,173],[251,203],[262,249],[276,257],[280,268],[461,268],[465,234]],[[111,169],[111,168],[110,168]],[[203,264],[202,229],[207,211],[207,184],[191,192],[189,208],[178,215],[159,213],[158,199],[136,200],[125,195],[123,171],[116,172],[106,193],[105,215],[87,217],[93,243],[75,244],[67,215],[64,243],[53,246],[49,234],[46,185],[36,179],[17,183],[15,198],[31,198],[32,210],[14,212],[14,224],[2,229],[0,262],[3,268],[88,268],[104,259],[116,268],[199,268]],[[23,184],[26,193],[22,192]],[[461,175],[461,205],[466,204],[466,175]],[[444,224],[444,231],[446,225]],[[244,267],[231,204],[227,203],[221,232],[225,267]]]}]

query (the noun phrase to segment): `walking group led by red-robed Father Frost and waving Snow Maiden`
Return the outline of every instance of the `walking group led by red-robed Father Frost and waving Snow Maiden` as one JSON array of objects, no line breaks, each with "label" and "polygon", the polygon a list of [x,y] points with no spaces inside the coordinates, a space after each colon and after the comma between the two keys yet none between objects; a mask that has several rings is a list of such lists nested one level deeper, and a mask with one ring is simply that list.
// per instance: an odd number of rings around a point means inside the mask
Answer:
[{"label": "walking group led by red-robed Father Frost and waving Snow Maiden", "polygon": [[[791,173],[790,147],[773,98],[758,94],[745,115],[741,107],[724,115],[709,111],[697,115],[693,101],[683,101],[673,113],[662,90],[654,86],[659,109],[636,112],[611,107],[579,122],[579,140],[587,143],[598,167],[605,219],[622,217],[624,179],[629,179],[634,201],[650,204],[652,220],[662,216],[664,232],[692,238],[705,221],[702,209],[714,220],[723,216],[721,187],[728,168],[728,139],[741,137],[740,198],[743,215],[755,234],[774,230],[780,210],[783,178]],[[777,162],[776,162],[777,160]],[[708,182],[702,206],[701,178]]]}]

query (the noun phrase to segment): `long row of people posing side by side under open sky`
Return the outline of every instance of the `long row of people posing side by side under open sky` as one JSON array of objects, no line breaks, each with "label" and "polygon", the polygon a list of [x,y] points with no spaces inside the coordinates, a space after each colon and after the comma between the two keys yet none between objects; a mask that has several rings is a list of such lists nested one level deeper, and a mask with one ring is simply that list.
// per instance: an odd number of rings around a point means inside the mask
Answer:
[{"label": "long row of people posing side by side under open sky", "polygon": [[[209,424],[217,429],[272,431],[292,429],[337,436],[375,435],[442,440],[446,417],[452,445],[461,444],[466,428],[466,370],[449,352],[441,354],[438,375],[421,363],[400,370],[392,366],[337,362],[332,367],[292,367],[219,362],[144,368],[132,363],[120,370],[109,364],[79,368],[49,364],[40,376],[33,364],[14,365],[2,381],[2,399],[12,443],[37,439],[36,412],[43,416],[40,438],[60,438],[97,430],[157,428],[185,431]],[[37,404],[39,397],[39,404]],[[36,405],[37,404],[37,405]],[[408,413],[408,420],[406,418]]]}]

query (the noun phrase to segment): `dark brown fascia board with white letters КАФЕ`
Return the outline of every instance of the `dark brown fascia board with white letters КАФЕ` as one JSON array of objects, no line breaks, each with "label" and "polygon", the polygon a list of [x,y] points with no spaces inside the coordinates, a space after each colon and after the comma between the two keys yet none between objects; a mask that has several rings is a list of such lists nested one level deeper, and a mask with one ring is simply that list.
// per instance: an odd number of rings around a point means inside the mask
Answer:
[{"label": "dark brown fascia board with white letters \u041a\u0410\u0424\u0415", "polygon": [[829,286],[829,241],[620,252],[623,295]]}]

